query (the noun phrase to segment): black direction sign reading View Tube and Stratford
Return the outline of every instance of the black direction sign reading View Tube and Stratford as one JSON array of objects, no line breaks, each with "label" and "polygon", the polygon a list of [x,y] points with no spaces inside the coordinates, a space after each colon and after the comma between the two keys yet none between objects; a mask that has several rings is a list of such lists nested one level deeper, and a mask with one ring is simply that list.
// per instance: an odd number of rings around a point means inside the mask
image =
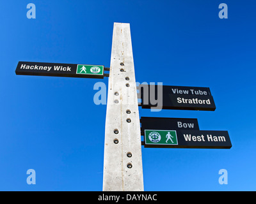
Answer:
[{"label": "black direction sign reading View Tube and Stratford", "polygon": [[139,86],[142,108],[212,111],[216,109],[211,91],[207,87],[157,86],[159,85]]}]

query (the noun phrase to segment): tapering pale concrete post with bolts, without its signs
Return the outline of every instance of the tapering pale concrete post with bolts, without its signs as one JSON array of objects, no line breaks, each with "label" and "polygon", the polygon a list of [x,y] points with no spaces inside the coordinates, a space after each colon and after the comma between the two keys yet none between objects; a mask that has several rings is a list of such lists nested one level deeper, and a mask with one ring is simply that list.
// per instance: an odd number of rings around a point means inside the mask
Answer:
[{"label": "tapering pale concrete post with bolts, without its signs", "polygon": [[103,191],[143,191],[140,116],[129,24],[115,23],[108,84]]}]

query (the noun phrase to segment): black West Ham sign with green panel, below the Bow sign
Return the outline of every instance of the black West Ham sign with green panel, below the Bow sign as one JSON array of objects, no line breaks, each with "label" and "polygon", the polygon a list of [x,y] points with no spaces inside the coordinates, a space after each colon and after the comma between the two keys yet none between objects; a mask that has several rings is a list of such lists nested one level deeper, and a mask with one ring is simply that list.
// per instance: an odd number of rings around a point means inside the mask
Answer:
[{"label": "black West Ham sign with green panel, below the Bow sign", "polygon": [[145,129],[144,147],[230,149],[228,131]]}]

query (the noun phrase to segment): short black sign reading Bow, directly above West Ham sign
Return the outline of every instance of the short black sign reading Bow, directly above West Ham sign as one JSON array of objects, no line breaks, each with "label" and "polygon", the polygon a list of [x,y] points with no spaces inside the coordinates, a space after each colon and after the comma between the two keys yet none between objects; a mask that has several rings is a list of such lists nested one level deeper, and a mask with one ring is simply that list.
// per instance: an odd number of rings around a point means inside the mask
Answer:
[{"label": "short black sign reading Bow, directly above West Ham sign", "polygon": [[199,130],[197,119],[180,119],[166,117],[141,117],[141,135],[145,129],[196,129]]}]

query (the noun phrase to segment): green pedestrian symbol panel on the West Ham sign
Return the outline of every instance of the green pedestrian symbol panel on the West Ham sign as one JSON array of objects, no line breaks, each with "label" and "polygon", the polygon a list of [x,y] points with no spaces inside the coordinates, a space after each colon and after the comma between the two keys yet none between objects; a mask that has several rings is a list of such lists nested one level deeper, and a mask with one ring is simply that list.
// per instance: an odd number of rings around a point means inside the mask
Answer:
[{"label": "green pedestrian symbol panel on the West Ham sign", "polygon": [[175,130],[145,129],[145,143],[155,145],[178,145]]}]

